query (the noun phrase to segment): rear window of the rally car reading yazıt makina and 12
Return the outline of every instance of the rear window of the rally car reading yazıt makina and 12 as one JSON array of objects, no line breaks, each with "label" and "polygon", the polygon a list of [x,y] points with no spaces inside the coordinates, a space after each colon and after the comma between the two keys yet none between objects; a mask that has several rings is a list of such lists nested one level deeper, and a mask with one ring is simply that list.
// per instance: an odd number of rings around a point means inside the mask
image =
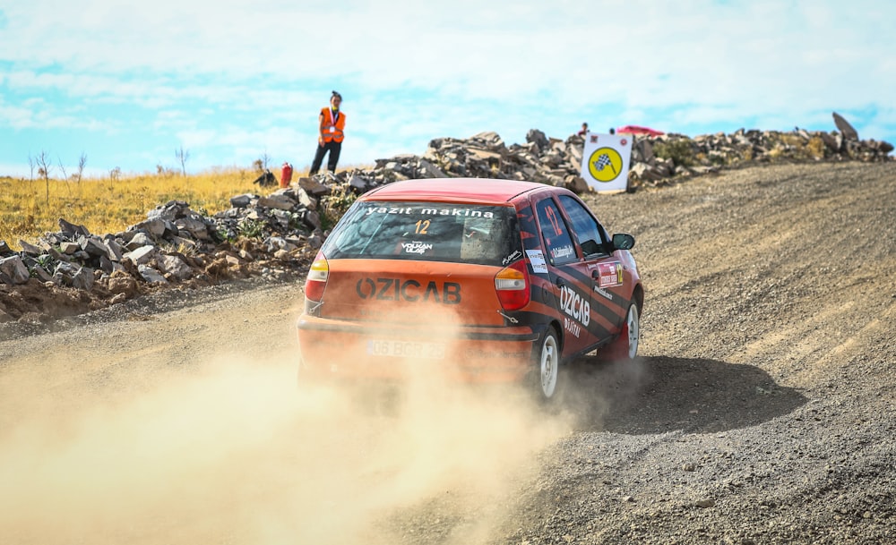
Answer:
[{"label": "rear window of the rally car reading yaz\u0131t makina and 12", "polygon": [[329,259],[506,265],[522,257],[511,206],[358,201],[323,244]]}]

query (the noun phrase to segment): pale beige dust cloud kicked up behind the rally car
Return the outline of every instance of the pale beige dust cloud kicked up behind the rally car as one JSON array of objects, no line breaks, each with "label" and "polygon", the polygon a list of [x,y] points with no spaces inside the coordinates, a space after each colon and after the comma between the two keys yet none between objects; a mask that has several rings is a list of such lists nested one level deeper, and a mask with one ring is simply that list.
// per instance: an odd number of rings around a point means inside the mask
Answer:
[{"label": "pale beige dust cloud kicked up behind the rally car", "polygon": [[104,393],[110,382],[15,396],[21,418],[0,430],[3,541],[486,541],[538,452],[570,430],[515,388],[416,376],[387,403],[298,387],[295,358],[281,360],[210,358],[126,395]]}]

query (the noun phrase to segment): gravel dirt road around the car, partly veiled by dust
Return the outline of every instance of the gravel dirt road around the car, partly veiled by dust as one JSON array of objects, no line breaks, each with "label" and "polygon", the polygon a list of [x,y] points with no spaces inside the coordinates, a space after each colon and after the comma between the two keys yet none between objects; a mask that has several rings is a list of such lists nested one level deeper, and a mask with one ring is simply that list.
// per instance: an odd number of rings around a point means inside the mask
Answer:
[{"label": "gravel dirt road around the car, partly veiled by dust", "polygon": [[420,381],[298,392],[298,285],[154,295],[0,342],[8,543],[896,543],[896,164],[590,200],[642,357],[559,413]]}]

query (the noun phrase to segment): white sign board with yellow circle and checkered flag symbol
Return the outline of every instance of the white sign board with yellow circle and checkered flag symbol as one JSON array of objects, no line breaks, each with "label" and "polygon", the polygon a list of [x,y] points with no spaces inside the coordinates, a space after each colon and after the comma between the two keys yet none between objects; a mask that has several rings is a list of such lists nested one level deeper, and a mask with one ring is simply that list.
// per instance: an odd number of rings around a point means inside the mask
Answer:
[{"label": "white sign board with yellow circle and checkered flag symbol", "polygon": [[585,133],[582,179],[596,192],[624,192],[632,162],[631,134]]}]

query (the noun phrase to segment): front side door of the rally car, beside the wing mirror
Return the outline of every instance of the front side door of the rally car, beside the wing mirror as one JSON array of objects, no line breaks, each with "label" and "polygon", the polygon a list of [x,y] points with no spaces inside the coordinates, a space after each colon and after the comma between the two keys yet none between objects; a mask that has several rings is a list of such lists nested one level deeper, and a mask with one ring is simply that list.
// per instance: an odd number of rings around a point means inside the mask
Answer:
[{"label": "front side door of the rally car, beside the wing mirror", "polygon": [[601,342],[622,327],[632,294],[632,275],[613,253],[607,231],[590,209],[572,195],[560,195],[559,201],[582,250],[591,283],[590,332]]}]

